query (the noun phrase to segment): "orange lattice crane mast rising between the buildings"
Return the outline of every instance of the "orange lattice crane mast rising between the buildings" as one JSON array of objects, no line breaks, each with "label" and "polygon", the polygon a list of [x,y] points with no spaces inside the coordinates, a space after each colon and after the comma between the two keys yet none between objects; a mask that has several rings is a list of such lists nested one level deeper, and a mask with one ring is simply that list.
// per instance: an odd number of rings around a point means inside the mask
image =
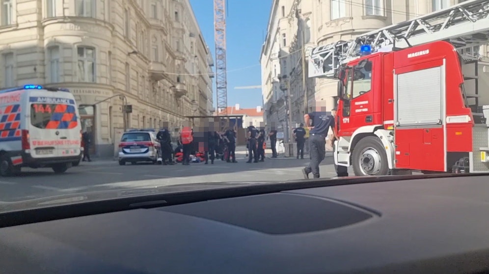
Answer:
[{"label": "orange lattice crane mast rising between the buildings", "polygon": [[217,115],[227,115],[226,0],[214,0]]}]

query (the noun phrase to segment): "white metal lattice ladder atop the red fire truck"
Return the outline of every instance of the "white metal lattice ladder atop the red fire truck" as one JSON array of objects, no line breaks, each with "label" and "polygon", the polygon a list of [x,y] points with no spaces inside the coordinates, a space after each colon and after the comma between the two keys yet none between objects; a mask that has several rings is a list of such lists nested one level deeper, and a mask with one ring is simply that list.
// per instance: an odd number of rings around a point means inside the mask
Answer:
[{"label": "white metal lattice ladder atop the red fire truck", "polygon": [[[465,1],[362,34],[355,40],[319,46],[311,51],[310,58],[317,65],[321,64],[323,74],[320,76],[334,77],[341,64],[360,56],[361,45],[370,45],[372,52],[380,52],[391,51],[394,46],[415,46],[440,40],[451,42],[459,51],[489,44],[489,0]],[[472,52],[463,54],[463,59],[477,60],[478,56]]]}]

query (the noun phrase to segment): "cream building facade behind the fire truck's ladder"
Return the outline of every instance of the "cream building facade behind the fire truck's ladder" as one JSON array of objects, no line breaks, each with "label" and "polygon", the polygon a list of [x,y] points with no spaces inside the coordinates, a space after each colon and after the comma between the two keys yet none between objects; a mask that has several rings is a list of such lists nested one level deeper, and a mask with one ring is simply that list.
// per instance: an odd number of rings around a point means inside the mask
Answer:
[{"label": "cream building facade behind the fire truck's ladder", "polygon": [[[336,106],[337,82],[308,78],[307,62],[313,47],[350,40],[462,1],[273,0],[260,56],[266,123],[284,128],[289,112],[292,128],[303,121],[316,101],[325,101],[329,109]],[[487,56],[482,48],[476,50]]]}]

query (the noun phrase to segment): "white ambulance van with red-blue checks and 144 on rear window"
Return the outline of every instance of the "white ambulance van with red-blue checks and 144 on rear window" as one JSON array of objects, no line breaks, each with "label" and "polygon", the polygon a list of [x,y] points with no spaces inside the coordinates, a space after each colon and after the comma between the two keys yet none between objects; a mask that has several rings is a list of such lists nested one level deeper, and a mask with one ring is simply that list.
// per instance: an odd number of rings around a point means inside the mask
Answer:
[{"label": "white ambulance van with red-blue checks and 144 on rear window", "polygon": [[26,85],[0,91],[0,175],[21,167],[63,173],[81,157],[81,123],[73,94]]}]

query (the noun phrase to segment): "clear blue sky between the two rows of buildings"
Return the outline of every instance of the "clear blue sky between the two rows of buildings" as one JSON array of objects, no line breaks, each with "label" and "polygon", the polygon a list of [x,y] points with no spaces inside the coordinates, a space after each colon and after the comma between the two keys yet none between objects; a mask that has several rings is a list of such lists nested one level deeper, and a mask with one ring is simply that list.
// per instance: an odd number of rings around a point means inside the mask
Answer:
[{"label": "clear blue sky between the two rows of buildings", "polygon": [[[190,0],[202,35],[215,60],[214,1]],[[226,67],[227,104],[241,108],[262,105],[261,89],[235,90],[240,86],[261,85],[260,52],[267,32],[271,0],[227,0]],[[214,105],[216,105],[216,78]]]}]

